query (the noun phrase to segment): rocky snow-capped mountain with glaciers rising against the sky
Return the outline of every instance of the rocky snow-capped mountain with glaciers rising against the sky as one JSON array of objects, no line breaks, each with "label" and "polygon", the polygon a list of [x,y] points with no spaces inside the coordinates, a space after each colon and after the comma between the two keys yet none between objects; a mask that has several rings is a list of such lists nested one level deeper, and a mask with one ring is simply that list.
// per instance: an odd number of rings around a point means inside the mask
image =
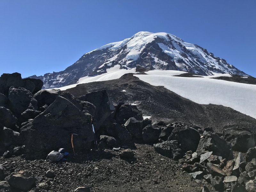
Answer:
[{"label": "rocky snow-capped mountain with glaciers rising against the sky", "polygon": [[43,80],[43,88],[57,88],[75,84],[79,78],[107,73],[115,66],[131,69],[141,65],[148,69],[179,70],[198,75],[234,74],[248,76],[224,59],[206,49],[184,42],[168,33],[139,32],[131,38],[104,45],[85,53],[63,71],[31,76]]}]

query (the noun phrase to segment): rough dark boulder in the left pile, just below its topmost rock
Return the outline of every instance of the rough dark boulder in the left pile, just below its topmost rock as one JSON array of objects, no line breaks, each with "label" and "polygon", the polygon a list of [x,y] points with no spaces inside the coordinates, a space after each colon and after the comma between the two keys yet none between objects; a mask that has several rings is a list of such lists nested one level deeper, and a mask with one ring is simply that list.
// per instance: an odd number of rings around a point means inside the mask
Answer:
[{"label": "rough dark boulder in the left pile, just below its topmost rock", "polygon": [[29,109],[37,109],[37,100],[34,98],[33,94],[23,87],[9,88],[9,103],[10,109],[14,114],[21,114]]}]

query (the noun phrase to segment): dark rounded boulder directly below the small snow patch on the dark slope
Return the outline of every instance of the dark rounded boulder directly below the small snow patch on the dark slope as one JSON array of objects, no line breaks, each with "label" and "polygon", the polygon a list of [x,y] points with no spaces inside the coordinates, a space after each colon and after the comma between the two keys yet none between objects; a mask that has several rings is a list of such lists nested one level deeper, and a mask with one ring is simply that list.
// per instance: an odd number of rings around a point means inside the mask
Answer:
[{"label": "dark rounded boulder directly below the small snow patch on the dark slope", "polygon": [[153,127],[152,125],[147,125],[142,129],[142,139],[146,143],[156,142],[159,138],[161,129]]}]

